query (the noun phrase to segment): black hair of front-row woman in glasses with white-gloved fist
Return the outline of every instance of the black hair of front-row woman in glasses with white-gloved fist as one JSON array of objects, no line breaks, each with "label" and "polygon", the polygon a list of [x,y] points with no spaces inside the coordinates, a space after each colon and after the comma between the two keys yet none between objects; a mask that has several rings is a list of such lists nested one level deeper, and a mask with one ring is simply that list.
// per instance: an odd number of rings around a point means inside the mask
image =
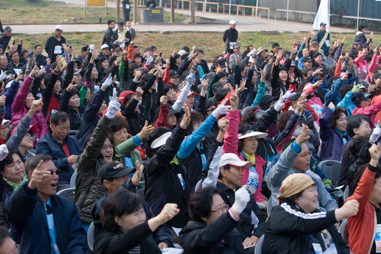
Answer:
[{"label": "black hair of front-row woman in glasses with white-gloved fist", "polygon": [[208,186],[196,191],[189,199],[189,213],[194,221],[205,224],[202,217],[209,217],[213,203],[213,195],[218,194],[223,198],[224,192],[215,186]]}]

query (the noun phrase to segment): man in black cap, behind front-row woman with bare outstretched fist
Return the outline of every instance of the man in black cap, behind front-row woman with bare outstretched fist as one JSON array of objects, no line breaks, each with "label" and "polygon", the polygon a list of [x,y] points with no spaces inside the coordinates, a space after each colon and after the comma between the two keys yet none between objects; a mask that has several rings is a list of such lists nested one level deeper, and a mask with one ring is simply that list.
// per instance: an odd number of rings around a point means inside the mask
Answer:
[{"label": "man in black cap, behind front-row woman with bare outstretched fist", "polygon": [[[119,170],[114,169],[116,166],[119,167]],[[98,199],[91,208],[91,215],[93,216],[95,227],[94,238],[104,231],[100,221],[100,216],[107,196],[114,193],[118,189],[126,189],[135,192],[136,185],[138,185],[140,180],[139,176],[142,174],[143,169],[144,166],[142,166],[138,161],[136,161],[136,168],[125,168],[123,164],[119,164],[118,161],[111,161],[99,169],[99,178],[107,192],[106,195],[103,198]],[[134,176],[130,180],[128,175],[131,173],[134,173]],[[144,203],[144,212],[146,214],[146,220],[155,217],[147,203]],[[152,235],[154,236],[155,242],[157,243],[159,249],[173,246],[171,232],[165,224],[160,225],[152,233]]]}]

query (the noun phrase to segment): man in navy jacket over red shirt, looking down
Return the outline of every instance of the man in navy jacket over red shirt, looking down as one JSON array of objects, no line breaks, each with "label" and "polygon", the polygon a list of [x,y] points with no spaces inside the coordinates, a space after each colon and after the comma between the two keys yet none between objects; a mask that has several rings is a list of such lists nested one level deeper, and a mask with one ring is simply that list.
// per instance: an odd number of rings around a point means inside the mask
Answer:
[{"label": "man in navy jacket over red shirt, looking down", "polygon": [[74,172],[72,165],[82,153],[78,140],[67,135],[70,129],[70,116],[58,111],[50,119],[51,132],[46,133],[36,145],[36,154],[53,158],[54,165],[61,170],[57,190],[70,188],[70,178]]}]

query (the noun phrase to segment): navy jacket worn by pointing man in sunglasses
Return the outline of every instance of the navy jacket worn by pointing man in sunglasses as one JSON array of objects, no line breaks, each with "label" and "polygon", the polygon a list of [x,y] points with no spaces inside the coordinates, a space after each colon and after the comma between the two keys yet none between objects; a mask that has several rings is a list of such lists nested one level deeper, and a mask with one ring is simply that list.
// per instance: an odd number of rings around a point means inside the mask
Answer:
[{"label": "navy jacket worn by pointing man in sunglasses", "polygon": [[[5,212],[11,223],[11,237],[20,244],[20,253],[50,254],[45,206],[37,195],[37,189],[31,190],[28,183],[29,181],[16,192],[10,193],[5,201]],[[59,252],[85,253],[86,231],[81,227],[75,204],[57,195],[51,196],[50,201]]]}]

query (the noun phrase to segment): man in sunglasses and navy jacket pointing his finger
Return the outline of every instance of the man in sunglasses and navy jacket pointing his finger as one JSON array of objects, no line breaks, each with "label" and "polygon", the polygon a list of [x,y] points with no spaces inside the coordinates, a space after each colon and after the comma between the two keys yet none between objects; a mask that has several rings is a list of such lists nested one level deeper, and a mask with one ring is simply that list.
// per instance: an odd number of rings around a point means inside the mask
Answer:
[{"label": "man in sunglasses and navy jacket pointing his finger", "polygon": [[60,170],[52,158],[33,156],[25,170],[29,181],[5,201],[12,238],[20,244],[20,253],[85,253],[86,231],[75,204],[56,195]]}]

